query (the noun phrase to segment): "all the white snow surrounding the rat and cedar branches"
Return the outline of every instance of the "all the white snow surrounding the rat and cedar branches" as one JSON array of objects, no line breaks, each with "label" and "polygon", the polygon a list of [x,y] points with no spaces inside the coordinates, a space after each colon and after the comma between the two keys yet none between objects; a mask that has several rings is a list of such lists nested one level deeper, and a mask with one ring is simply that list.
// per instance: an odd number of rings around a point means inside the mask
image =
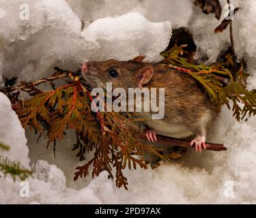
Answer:
[{"label": "all the white snow surrounding the rat and cedar branches", "polygon": [[[221,2],[224,16],[226,1]],[[236,50],[246,57],[248,84],[255,89],[256,1],[231,2],[241,7],[234,21]],[[24,20],[27,6],[29,19]],[[214,34],[219,22],[190,0],[0,0],[0,76],[36,80],[50,76],[55,65],[77,69],[91,58],[128,60],[145,54],[148,61],[158,61],[171,29],[177,27],[188,27],[198,46],[197,57],[208,55],[212,62],[229,45],[229,31]],[[36,144],[33,132],[23,130],[8,98],[0,93],[0,142],[11,146],[4,155],[35,172],[28,179],[29,198],[20,197],[20,183],[0,178],[0,203],[256,202],[255,117],[238,123],[223,108],[208,140],[225,143],[228,151],[191,150],[181,161],[154,170],[126,170],[128,191],[117,189],[105,173],[74,183],[74,169],[81,163],[71,151],[74,138],[69,135],[57,146],[54,159],[44,139]]]}]

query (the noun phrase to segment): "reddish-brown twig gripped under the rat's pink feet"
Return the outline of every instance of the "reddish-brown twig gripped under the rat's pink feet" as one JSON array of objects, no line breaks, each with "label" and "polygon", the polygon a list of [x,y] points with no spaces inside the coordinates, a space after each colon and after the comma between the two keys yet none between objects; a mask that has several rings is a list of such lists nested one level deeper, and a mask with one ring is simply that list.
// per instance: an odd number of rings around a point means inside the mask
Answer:
[{"label": "reddish-brown twig gripped under the rat's pink feet", "polygon": [[[147,140],[147,137],[145,136],[145,134],[140,134],[139,138],[141,138],[141,140]],[[188,148],[188,147],[194,147],[190,146],[190,141],[188,140],[184,140],[184,139],[178,139],[178,138],[171,138],[168,136],[161,136],[161,135],[157,135],[157,143],[160,144],[166,144],[166,145],[172,145],[172,146],[181,146],[184,148]],[[216,144],[216,143],[210,143],[210,142],[206,142],[206,150],[210,150],[210,151],[226,151],[227,148],[224,146],[224,144]]]}]

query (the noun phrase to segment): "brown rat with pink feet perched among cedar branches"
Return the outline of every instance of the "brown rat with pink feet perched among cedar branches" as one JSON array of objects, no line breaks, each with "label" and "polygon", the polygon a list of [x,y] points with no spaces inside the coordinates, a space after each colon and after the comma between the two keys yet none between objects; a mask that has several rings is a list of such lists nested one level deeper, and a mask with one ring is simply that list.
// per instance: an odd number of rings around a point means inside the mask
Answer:
[{"label": "brown rat with pink feet perched among cedar branches", "polygon": [[197,152],[206,149],[205,138],[208,126],[214,119],[214,106],[210,97],[188,74],[177,72],[165,65],[144,62],[145,55],[130,61],[89,61],[83,63],[81,72],[91,88],[104,87],[112,82],[113,89],[165,88],[165,116],[150,119],[151,112],[139,112],[145,119],[146,136],[150,142],[157,142],[156,134],[175,138],[193,137]]}]

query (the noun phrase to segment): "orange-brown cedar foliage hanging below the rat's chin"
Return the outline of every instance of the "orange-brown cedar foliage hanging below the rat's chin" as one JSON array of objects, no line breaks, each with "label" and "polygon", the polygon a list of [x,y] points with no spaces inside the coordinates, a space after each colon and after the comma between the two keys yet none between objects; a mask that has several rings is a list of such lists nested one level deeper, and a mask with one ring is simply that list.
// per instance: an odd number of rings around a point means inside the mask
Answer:
[{"label": "orange-brown cedar foliage hanging below the rat's chin", "polygon": [[[83,166],[76,168],[74,181],[79,177],[87,176],[92,167],[92,176],[100,172],[109,173],[109,178],[116,180],[117,187],[128,189],[128,180],[123,170],[136,169],[137,165],[147,168],[143,153],[151,153],[161,159],[170,160],[161,155],[159,149],[143,144],[139,141],[139,128],[134,123],[135,114],[91,111],[90,92],[83,87],[80,81],[72,81],[54,91],[42,92],[27,99],[24,107],[18,108],[23,127],[29,125],[35,131],[46,132],[48,144],[63,140],[66,129],[74,129],[77,142],[75,148],[80,148],[81,160],[87,151],[93,151],[94,157]],[[113,174],[115,168],[115,175]]]}]

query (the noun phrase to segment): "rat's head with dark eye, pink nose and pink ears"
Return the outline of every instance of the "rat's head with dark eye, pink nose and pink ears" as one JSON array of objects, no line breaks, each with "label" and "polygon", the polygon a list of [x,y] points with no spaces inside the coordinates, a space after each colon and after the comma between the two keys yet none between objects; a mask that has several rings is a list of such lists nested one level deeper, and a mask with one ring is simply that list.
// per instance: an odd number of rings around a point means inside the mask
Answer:
[{"label": "rat's head with dark eye, pink nose and pink ears", "polygon": [[83,63],[82,74],[91,88],[105,88],[112,82],[113,89],[143,87],[154,74],[152,65],[142,63],[144,55],[130,61],[92,61]]}]

